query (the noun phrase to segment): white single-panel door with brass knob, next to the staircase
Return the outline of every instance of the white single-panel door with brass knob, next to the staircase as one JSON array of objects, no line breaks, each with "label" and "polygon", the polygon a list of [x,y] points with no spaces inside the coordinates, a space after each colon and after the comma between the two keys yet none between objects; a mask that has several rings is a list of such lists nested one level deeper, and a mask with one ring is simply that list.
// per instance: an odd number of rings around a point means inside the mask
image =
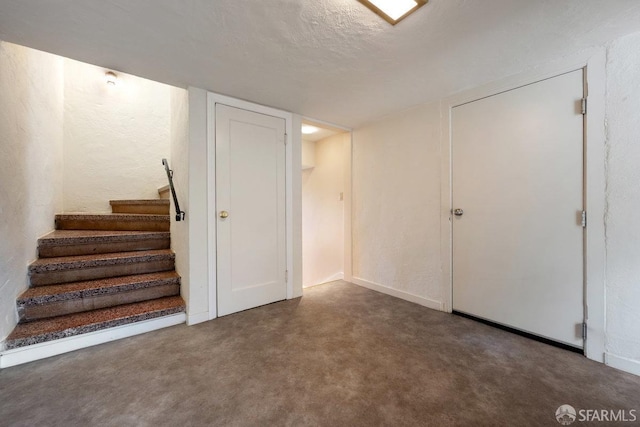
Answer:
[{"label": "white single-panel door with brass knob, next to the staircase", "polygon": [[286,299],[285,120],[216,104],[218,315]]}]

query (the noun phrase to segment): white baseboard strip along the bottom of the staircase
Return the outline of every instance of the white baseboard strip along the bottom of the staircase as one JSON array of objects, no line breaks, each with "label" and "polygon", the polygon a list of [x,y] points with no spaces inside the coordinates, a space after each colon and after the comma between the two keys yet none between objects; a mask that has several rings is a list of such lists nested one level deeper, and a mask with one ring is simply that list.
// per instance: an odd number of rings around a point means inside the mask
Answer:
[{"label": "white baseboard strip along the bottom of the staircase", "polygon": [[57,356],[59,354],[68,353],[98,344],[104,344],[122,338],[132,337],[134,335],[144,334],[146,332],[167,328],[169,326],[179,325],[184,323],[186,318],[186,314],[177,313],[170,316],[159,317],[157,319],[149,319],[129,325],[90,332],[88,334],[76,335],[40,344],[33,344],[12,350],[5,350],[0,353],[0,369],[45,359],[51,356]]}]

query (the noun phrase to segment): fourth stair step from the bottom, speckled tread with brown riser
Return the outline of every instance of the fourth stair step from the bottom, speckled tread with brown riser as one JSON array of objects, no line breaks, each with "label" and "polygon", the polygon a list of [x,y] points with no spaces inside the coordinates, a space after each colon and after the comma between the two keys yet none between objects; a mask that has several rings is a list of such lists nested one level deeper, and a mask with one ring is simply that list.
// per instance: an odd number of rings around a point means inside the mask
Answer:
[{"label": "fourth stair step from the bottom, speckled tread with brown riser", "polygon": [[41,258],[169,249],[168,231],[56,230],[38,239]]}]

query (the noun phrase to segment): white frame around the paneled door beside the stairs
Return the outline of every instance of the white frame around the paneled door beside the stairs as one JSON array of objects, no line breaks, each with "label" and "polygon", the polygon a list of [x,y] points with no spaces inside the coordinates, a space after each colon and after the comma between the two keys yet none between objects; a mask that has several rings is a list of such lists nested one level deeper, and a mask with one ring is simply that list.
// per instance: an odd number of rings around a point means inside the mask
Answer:
[{"label": "white frame around the paneled door beside the stairs", "polygon": [[287,271],[287,299],[294,298],[294,259],[293,259],[293,115],[271,107],[254,104],[248,101],[207,93],[207,240],[209,246],[209,319],[218,317],[218,266],[217,260],[217,220],[216,220],[216,104],[248,110],[267,116],[278,117],[285,121],[287,144],[285,146],[285,232],[286,232],[286,261]]}]

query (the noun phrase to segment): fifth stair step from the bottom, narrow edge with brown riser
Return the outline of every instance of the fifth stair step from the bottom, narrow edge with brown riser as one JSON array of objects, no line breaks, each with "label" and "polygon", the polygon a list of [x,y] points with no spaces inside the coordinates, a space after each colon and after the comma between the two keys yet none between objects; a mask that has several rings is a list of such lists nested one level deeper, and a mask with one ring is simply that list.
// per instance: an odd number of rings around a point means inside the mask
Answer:
[{"label": "fifth stair step from the bottom, narrow edge with brown riser", "polygon": [[169,215],[58,214],[57,230],[169,231]]}]

